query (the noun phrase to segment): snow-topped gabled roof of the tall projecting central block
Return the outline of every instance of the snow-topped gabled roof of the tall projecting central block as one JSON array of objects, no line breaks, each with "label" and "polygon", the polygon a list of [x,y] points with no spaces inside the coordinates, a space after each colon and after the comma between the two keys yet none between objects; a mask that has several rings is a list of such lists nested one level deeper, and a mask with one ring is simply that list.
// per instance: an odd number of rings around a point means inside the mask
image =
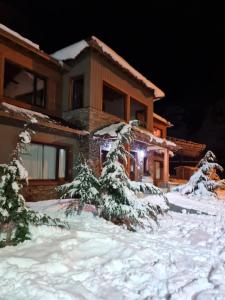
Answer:
[{"label": "snow-topped gabled roof of the tall projecting central block", "polygon": [[95,36],[92,36],[88,40],[82,40],[78,43],[65,47],[59,51],[52,54],[52,57],[58,60],[76,59],[76,57],[83,52],[84,49],[88,47],[94,47],[101,54],[110,58],[114,63],[119,65],[121,68],[129,72],[138,81],[141,81],[147,88],[154,90],[155,99],[165,97],[165,94],[156,85],[154,85],[150,80],[143,76],[140,72],[134,69],[124,58],[118,55],[114,50],[112,50],[105,43],[100,41]]}]

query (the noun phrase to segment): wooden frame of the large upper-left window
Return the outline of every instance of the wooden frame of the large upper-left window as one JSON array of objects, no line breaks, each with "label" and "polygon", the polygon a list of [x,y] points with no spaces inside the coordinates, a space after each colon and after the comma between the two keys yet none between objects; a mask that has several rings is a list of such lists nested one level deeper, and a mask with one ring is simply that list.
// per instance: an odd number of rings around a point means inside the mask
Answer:
[{"label": "wooden frame of the large upper-left window", "polygon": [[[4,84],[5,84],[5,67],[6,67],[6,62],[8,62],[9,64],[11,65],[15,65],[17,66],[18,68],[21,68],[21,70],[23,71],[26,71],[26,72],[29,72],[30,74],[32,74],[34,76],[34,82],[33,82],[33,94],[34,94],[34,100],[32,100],[31,103],[27,103],[26,101],[24,100],[20,100],[20,99],[15,99],[15,98],[11,98],[9,96],[5,96],[5,88],[4,88]],[[43,105],[38,105],[36,104],[36,95],[37,95],[37,79],[41,79],[43,80],[44,82],[44,103]],[[29,68],[27,67],[24,67],[23,65],[15,62],[15,61],[12,61],[11,59],[8,59],[8,58],[4,58],[4,63],[3,63],[3,97],[6,98],[6,99],[10,99],[10,100],[13,100],[13,101],[18,101],[20,103],[24,103],[24,104],[27,104],[27,105],[32,105],[32,106],[36,106],[38,108],[42,108],[42,109],[45,109],[46,106],[47,106],[47,77],[43,76],[43,75],[40,75],[39,73],[33,71],[33,70],[30,70]]]}]

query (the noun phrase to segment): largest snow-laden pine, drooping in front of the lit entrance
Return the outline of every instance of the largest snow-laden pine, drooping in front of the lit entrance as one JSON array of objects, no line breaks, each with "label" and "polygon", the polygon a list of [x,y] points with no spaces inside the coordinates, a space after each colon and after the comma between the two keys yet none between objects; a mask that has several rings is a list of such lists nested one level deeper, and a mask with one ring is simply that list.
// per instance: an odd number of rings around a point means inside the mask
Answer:
[{"label": "largest snow-laden pine, drooping in front of the lit entrance", "polygon": [[[130,181],[124,165],[130,153],[126,150],[133,139],[132,125],[119,123],[117,125],[117,138],[109,150],[99,179],[101,186],[101,216],[118,225],[125,225],[129,230],[138,226],[151,228],[152,220],[157,222],[157,215],[163,213],[159,205],[154,205],[149,200],[139,199],[137,192],[163,197],[160,189],[150,183]],[[106,130],[103,129],[103,132]],[[98,132],[96,133],[98,135]],[[166,198],[163,200],[166,201]]]}]

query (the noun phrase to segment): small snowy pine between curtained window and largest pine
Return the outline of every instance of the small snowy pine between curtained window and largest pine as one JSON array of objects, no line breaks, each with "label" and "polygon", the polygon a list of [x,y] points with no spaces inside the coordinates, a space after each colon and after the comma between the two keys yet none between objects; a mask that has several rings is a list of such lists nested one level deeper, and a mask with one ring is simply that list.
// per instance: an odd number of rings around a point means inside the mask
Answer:
[{"label": "small snowy pine between curtained window and largest pine", "polygon": [[85,159],[79,159],[75,167],[76,176],[72,182],[59,187],[61,198],[76,198],[66,209],[66,215],[80,213],[85,204],[92,204],[96,207],[99,201],[99,181],[93,174]]}]

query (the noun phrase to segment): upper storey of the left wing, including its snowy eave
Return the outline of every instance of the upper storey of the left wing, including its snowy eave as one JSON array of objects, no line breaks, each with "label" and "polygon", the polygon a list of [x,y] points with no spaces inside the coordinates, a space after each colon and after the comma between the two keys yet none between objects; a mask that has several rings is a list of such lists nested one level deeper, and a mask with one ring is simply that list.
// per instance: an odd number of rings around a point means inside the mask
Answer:
[{"label": "upper storey of the left wing, including its snowy eave", "polygon": [[62,114],[60,63],[0,25],[0,101],[51,116]]}]

